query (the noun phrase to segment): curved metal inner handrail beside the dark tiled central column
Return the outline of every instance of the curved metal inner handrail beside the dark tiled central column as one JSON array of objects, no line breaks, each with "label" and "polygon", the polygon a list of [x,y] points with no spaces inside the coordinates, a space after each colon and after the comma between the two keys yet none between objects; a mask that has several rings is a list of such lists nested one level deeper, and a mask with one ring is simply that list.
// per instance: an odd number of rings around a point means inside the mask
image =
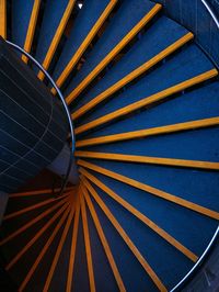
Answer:
[{"label": "curved metal inner handrail beside the dark tiled central column", "polygon": [[72,123],[72,120],[71,120],[71,114],[70,114],[70,111],[68,109],[68,104],[66,103],[65,101],[65,98],[60,91],[60,89],[57,87],[56,82],[54,81],[54,79],[50,77],[50,75],[44,69],[44,67],[34,58],[32,57],[25,49],[23,49],[22,47],[20,47],[19,45],[10,42],[10,41],[7,41],[7,44],[9,44],[11,47],[15,48],[16,50],[19,50],[20,53],[22,53],[23,55],[25,55],[27,58],[30,58],[43,72],[44,75],[48,78],[48,80],[51,82],[53,87],[56,89],[61,102],[62,102],[62,105],[65,108],[65,111],[67,113],[67,116],[68,116],[68,122],[69,122],[69,127],[70,127],[70,135],[71,135],[71,147],[70,147],[70,157],[69,157],[69,165],[68,165],[68,168],[67,168],[67,172],[66,172],[66,176],[65,176],[65,179],[64,179],[64,182],[62,182],[62,186],[61,186],[61,189],[59,191],[59,194],[61,194],[64,191],[65,191],[65,188],[67,186],[67,182],[68,182],[68,178],[69,178],[69,175],[70,175],[70,170],[71,170],[71,166],[72,166],[72,161],[73,161],[73,153],[74,153],[74,149],[76,149],[76,143],[74,143],[74,132],[73,132],[73,123]]}]

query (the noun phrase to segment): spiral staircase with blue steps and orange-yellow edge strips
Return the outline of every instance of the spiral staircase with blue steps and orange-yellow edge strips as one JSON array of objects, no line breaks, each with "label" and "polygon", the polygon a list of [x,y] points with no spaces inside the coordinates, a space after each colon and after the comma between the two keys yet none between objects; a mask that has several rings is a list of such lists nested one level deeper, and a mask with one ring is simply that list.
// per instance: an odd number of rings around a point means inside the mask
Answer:
[{"label": "spiral staircase with blue steps and orange-yellow edge strips", "polygon": [[79,176],[59,196],[9,194],[2,292],[170,291],[211,240],[219,53],[157,2],[0,1],[1,36],[66,98]]}]

